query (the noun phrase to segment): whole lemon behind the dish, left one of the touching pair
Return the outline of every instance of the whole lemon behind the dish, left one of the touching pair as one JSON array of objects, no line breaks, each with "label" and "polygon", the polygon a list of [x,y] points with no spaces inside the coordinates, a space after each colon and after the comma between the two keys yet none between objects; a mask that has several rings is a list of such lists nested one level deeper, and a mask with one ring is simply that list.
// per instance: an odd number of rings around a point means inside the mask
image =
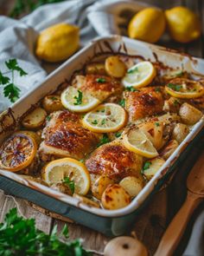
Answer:
[{"label": "whole lemon behind the dish, left one of the touching pair", "polygon": [[165,30],[165,16],[162,10],[146,8],[132,17],[128,35],[149,43],[156,43]]}]

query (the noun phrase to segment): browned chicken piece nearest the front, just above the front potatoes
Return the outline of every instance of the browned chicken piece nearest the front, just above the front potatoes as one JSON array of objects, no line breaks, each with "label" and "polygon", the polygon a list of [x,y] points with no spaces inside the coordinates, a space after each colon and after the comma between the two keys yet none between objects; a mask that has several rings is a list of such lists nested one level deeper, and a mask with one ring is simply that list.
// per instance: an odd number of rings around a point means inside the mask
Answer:
[{"label": "browned chicken piece nearest the front, just above the front potatoes", "polygon": [[104,174],[115,181],[139,176],[142,165],[143,157],[124,148],[119,140],[100,146],[86,160],[90,174]]}]

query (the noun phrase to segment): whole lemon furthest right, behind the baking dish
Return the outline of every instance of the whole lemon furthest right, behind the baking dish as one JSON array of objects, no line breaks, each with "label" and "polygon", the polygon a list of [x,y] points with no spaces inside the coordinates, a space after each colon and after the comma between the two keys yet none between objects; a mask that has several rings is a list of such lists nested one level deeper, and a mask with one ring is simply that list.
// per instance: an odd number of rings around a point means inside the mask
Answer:
[{"label": "whole lemon furthest right, behind the baking dish", "polygon": [[198,16],[186,7],[177,6],[165,11],[169,33],[175,41],[188,43],[201,36]]}]

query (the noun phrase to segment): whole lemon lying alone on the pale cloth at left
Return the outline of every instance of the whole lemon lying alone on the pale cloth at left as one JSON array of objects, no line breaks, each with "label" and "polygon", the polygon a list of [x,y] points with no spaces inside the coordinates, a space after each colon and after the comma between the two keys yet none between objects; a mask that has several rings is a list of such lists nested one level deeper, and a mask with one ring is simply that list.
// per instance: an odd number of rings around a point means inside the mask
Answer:
[{"label": "whole lemon lying alone on the pale cloth at left", "polygon": [[79,28],[59,23],[41,32],[37,40],[36,56],[47,62],[60,62],[71,56],[79,44]]}]

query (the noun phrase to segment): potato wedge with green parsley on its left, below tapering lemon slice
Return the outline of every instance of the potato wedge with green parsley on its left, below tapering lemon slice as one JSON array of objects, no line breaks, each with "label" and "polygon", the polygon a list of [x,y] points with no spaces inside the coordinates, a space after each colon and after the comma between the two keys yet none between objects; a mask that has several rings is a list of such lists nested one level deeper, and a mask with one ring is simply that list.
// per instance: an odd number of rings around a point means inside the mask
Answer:
[{"label": "potato wedge with green parsley on its left, below tapering lemon slice", "polygon": [[143,175],[148,181],[157,173],[157,171],[163,166],[164,160],[162,157],[157,156],[154,159],[146,161],[143,166]]}]

